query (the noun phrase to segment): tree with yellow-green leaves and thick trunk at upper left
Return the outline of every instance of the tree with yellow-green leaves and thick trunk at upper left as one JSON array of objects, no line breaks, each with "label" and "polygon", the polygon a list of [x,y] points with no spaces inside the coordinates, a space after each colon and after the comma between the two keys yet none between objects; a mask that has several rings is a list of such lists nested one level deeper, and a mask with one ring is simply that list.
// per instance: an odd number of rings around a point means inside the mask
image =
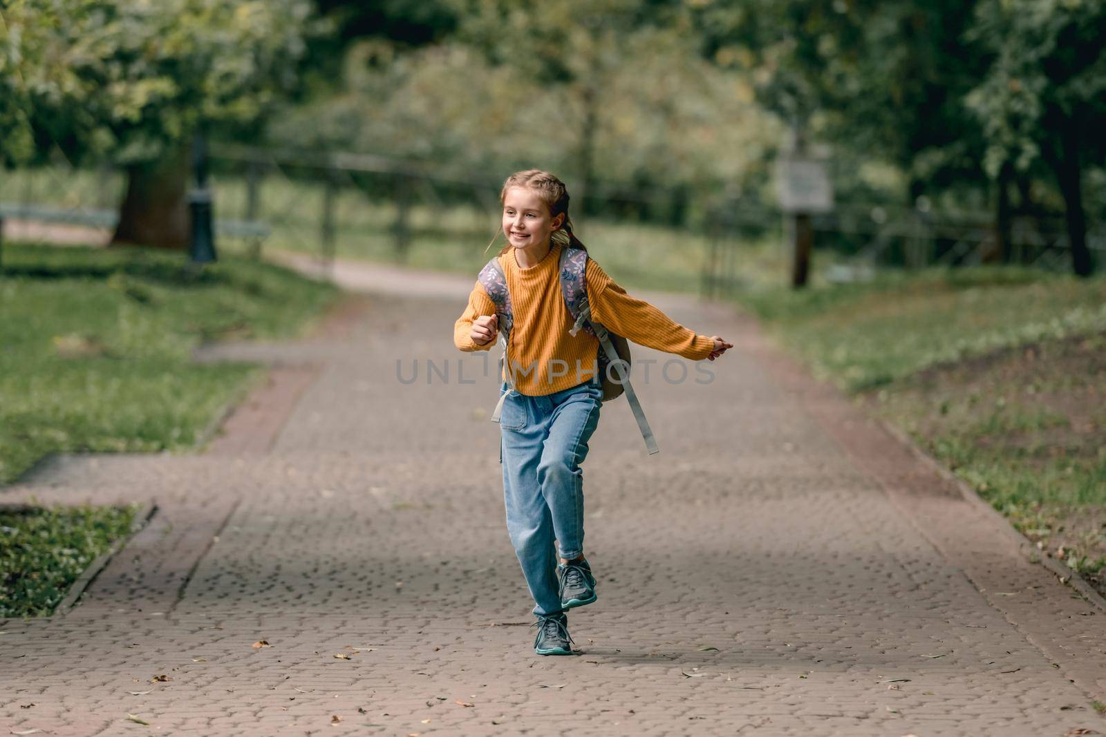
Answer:
[{"label": "tree with yellow-green leaves and thick trunk at upper left", "polygon": [[113,241],[184,248],[188,143],[260,130],[313,29],[307,0],[10,0],[0,151],[111,157],[128,173]]}]

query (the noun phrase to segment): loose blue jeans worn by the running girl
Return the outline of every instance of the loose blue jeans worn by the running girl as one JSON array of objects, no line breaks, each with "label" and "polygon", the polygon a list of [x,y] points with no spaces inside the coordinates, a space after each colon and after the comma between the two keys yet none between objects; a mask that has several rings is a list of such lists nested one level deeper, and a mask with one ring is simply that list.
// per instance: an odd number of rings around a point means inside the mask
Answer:
[{"label": "loose blue jeans worn by the running girl", "polygon": [[561,611],[556,554],[572,559],[584,551],[580,464],[599,422],[602,398],[599,385],[587,381],[544,397],[511,391],[503,400],[499,425],[507,531],[538,615]]}]

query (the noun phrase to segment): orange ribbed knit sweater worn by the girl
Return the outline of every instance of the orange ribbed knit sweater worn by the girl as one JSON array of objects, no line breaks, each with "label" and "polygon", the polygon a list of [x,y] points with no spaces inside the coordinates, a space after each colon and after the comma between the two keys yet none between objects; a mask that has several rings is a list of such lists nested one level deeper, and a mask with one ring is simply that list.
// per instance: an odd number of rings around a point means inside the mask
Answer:
[{"label": "orange ribbed knit sweater worn by the girl", "polygon": [[[514,314],[508,356],[512,366],[520,367],[514,373],[515,388],[532,397],[568,389],[595,373],[598,339],[584,330],[575,337],[568,335],[573,319],[561,294],[560,259],[560,244],[553,244],[545,257],[530,269],[519,266],[514,251],[499,256]],[[648,302],[626,294],[591,257],[586,278],[592,317],[612,333],[691,360],[702,360],[713,349],[709,337],[696,335]],[[469,331],[473,319],[494,314],[495,304],[478,281],[465,313],[453,325],[453,344],[466,351],[490,349],[495,340],[478,346]]]}]

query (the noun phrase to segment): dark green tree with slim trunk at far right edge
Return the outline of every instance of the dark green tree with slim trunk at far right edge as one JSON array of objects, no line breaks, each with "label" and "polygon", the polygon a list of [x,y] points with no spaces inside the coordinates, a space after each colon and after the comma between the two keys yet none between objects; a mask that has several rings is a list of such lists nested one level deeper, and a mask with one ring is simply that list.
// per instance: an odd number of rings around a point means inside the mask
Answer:
[{"label": "dark green tree with slim trunk at far right edge", "polygon": [[981,0],[971,35],[992,54],[968,104],[987,131],[1000,181],[1039,159],[1064,200],[1072,269],[1087,276],[1083,171],[1106,157],[1106,6],[1097,0]]}]

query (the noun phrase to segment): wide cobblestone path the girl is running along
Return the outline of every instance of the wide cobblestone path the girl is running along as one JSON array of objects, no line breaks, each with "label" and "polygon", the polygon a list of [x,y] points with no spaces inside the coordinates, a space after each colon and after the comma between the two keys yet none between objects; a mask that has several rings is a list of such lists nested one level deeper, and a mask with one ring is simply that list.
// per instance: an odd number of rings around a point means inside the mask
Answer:
[{"label": "wide cobblestone path the girl is running along", "polygon": [[636,351],[661,453],[604,408],[599,599],[570,618],[577,656],[534,655],[458,288],[211,351],[281,368],[206,453],[60,457],[4,489],[158,512],[72,611],[0,622],[0,734],[1106,731],[1106,613],[755,326],[686,301],[664,306],[737,347],[709,385]]}]

